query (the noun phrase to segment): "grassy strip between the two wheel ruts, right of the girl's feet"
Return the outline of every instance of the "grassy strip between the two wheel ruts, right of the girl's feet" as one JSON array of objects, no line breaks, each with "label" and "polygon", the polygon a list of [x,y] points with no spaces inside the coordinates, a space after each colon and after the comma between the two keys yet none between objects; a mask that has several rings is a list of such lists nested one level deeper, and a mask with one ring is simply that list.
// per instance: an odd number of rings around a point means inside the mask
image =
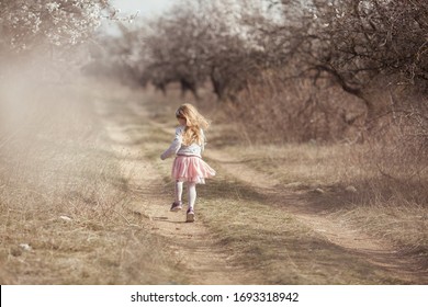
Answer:
[{"label": "grassy strip between the two wheel ruts, right of the girl's feet", "polygon": [[259,272],[251,284],[401,283],[245,184],[222,179],[200,190],[204,221],[230,249],[236,263]]}]

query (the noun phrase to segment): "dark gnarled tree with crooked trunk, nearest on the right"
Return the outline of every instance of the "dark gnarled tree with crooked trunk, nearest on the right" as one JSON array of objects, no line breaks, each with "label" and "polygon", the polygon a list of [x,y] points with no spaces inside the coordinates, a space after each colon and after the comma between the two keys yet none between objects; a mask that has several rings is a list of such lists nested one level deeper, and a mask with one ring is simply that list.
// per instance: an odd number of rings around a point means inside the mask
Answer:
[{"label": "dark gnarled tree with crooked trunk, nearest on the right", "polygon": [[[428,3],[398,0],[282,1],[285,22],[270,31],[280,36],[285,53],[294,58],[301,76],[328,77],[360,98],[368,118],[379,115],[380,103],[371,96],[376,78],[395,84],[426,84],[428,78]],[[291,10],[290,5],[299,8]],[[284,48],[283,48],[284,49]],[[390,79],[391,79],[390,78]]]}]

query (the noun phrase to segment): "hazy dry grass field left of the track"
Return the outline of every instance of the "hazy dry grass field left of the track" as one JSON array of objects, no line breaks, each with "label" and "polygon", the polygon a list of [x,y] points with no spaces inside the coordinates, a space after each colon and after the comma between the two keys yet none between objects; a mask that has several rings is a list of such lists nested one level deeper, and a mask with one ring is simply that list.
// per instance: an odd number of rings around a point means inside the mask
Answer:
[{"label": "hazy dry grass field left of the track", "polygon": [[93,122],[95,90],[38,86],[14,93],[26,117],[9,118],[19,125],[0,152],[0,282],[179,283],[167,241],[127,208],[138,195]]}]

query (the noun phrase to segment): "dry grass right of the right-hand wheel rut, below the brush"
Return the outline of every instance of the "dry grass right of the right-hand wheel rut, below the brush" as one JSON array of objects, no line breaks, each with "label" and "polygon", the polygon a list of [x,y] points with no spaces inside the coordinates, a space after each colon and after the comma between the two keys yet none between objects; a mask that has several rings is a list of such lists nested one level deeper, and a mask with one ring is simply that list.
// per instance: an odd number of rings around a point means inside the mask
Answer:
[{"label": "dry grass right of the right-hand wheel rut, below the brush", "polygon": [[[421,182],[392,182],[380,174],[368,162],[367,146],[294,144],[224,150],[279,182],[275,190],[300,195],[307,211],[386,239],[409,258],[427,259],[428,208],[420,201],[426,197]],[[421,265],[427,269],[427,263]]]}]

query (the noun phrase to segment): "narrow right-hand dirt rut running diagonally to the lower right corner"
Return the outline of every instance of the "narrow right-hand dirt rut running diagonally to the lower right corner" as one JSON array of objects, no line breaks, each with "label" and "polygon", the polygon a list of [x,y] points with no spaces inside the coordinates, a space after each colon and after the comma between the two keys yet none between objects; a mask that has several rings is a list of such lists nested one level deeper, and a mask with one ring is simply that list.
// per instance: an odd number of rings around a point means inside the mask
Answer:
[{"label": "narrow right-hand dirt rut running diagonally to the lower right corner", "polygon": [[222,166],[222,171],[247,182],[262,194],[270,195],[273,204],[289,211],[297,220],[308,226],[328,241],[345,248],[373,264],[397,273],[403,280],[426,284],[427,274],[420,272],[418,262],[404,255],[386,240],[373,238],[363,231],[351,228],[345,223],[331,218],[328,214],[319,214],[311,208],[300,197],[297,192],[291,192],[280,186],[272,177],[260,173],[245,166],[237,157],[230,157],[218,150],[210,150],[205,155]]}]

